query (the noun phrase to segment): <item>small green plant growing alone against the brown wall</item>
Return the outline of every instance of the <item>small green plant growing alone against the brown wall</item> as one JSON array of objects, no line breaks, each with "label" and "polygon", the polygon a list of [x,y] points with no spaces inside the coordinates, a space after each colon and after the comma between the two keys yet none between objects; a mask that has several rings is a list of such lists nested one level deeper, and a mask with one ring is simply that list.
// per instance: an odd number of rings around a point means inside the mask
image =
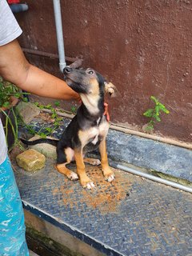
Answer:
[{"label": "small green plant growing alone against the brown wall", "polygon": [[150,122],[148,122],[147,126],[144,128],[146,132],[154,130],[154,124],[161,122],[160,114],[162,114],[162,112],[165,114],[170,113],[170,111],[166,109],[166,106],[159,102],[158,98],[150,96],[150,99],[154,102],[155,106],[153,109],[146,110],[146,112],[143,113],[144,116],[150,118]]}]

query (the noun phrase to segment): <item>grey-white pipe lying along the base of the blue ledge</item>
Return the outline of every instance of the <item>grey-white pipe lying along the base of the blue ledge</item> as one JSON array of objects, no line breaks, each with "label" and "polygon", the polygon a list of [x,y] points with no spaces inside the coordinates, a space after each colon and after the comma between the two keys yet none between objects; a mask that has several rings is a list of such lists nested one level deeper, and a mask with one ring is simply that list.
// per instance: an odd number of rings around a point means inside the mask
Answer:
[{"label": "grey-white pipe lying along the base of the blue ledge", "polygon": [[110,163],[110,166],[114,167],[114,168],[118,168],[118,169],[121,169],[121,170],[125,170],[131,174],[135,174],[135,175],[138,175],[138,176],[142,176],[143,178],[149,178],[150,180],[154,181],[154,182],[160,182],[162,184],[165,184],[167,186],[173,186],[179,190],[184,190],[186,192],[190,192],[192,193],[192,188],[190,186],[183,186],[181,184],[178,184],[176,182],[170,182],[164,178],[159,178],[159,177],[156,177],[154,175],[151,175],[151,174],[146,174],[146,173],[143,173],[139,170],[135,170],[133,168],[130,168],[130,167],[127,167],[127,166],[122,166],[122,165],[119,165],[119,164],[113,164],[113,163]]}]

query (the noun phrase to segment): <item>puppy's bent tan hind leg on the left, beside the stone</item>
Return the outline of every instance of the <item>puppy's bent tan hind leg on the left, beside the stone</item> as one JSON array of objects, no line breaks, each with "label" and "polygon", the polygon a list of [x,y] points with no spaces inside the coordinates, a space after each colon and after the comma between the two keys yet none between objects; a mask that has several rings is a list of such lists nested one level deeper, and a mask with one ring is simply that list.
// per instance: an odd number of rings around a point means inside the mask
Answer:
[{"label": "puppy's bent tan hind leg on the left, beside the stone", "polygon": [[67,178],[70,180],[77,180],[78,175],[75,174],[73,171],[66,168],[66,165],[69,164],[71,161],[74,160],[74,150],[70,147],[66,149],[58,150],[58,160],[55,166],[55,169],[58,170],[59,173],[65,174]]}]

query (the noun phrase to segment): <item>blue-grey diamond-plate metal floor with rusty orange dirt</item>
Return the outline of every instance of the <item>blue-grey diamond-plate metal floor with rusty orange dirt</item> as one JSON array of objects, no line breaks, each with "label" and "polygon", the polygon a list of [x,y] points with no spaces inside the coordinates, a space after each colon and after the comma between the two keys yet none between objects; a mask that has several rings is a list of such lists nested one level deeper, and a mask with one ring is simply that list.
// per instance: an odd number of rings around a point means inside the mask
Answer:
[{"label": "blue-grey diamond-plate metal floor with rusty orange dirt", "polygon": [[[74,166],[71,166],[74,169]],[[24,207],[106,255],[192,255],[192,195],[114,170],[86,166],[95,190],[82,189],[47,162],[27,174],[14,163]]]}]

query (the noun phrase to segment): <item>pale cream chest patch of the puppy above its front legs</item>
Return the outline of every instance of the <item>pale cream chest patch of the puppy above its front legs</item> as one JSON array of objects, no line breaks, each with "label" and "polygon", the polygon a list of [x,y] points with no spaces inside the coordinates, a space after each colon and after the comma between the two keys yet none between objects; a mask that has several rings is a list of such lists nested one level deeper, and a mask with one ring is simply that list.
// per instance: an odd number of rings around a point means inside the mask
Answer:
[{"label": "pale cream chest patch of the puppy above its front legs", "polygon": [[90,127],[87,130],[79,130],[78,137],[82,143],[82,147],[90,142],[95,145],[98,140],[102,141],[102,138],[106,137],[108,130],[108,122],[102,122],[98,126]]}]

